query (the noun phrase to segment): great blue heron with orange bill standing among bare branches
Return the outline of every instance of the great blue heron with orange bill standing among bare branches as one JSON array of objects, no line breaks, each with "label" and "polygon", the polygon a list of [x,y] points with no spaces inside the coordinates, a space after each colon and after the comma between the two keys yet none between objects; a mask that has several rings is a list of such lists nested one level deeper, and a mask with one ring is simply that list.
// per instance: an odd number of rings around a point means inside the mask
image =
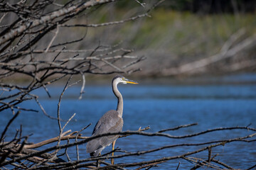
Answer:
[{"label": "great blue heron with orange bill standing among bare branches", "polygon": [[[136,81],[132,81],[129,79],[126,79],[122,76],[116,76],[114,79],[112,79],[112,90],[115,96],[117,96],[118,102],[117,102],[117,110],[111,110],[102,115],[102,118],[97,122],[95,125],[95,128],[92,132],[92,136],[100,135],[107,132],[121,132],[122,126],[124,124],[122,119],[122,113],[123,113],[123,99],[122,94],[117,89],[117,84],[138,84]],[[113,136],[105,136],[96,138],[95,140],[90,140],[90,142],[87,143],[86,146],[86,152],[90,153],[91,157],[97,157],[100,152],[102,152],[105,147],[112,144],[112,150],[114,150],[114,144],[115,141],[119,135],[113,135]],[[112,156],[114,155],[114,152],[112,152]],[[114,164],[114,159],[111,160],[111,163]]]}]

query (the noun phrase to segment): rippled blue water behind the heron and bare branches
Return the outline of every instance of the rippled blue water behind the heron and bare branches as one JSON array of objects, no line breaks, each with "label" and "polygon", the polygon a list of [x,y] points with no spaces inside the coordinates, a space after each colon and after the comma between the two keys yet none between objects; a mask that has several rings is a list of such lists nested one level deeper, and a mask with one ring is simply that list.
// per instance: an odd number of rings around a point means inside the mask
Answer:
[{"label": "rippled blue water behind the heron and bare branches", "polygon": [[[43,89],[34,91],[40,96],[39,101],[48,115],[57,117],[58,96],[63,90],[63,86],[49,87],[52,98],[48,98]],[[119,91],[124,98],[123,130],[137,130],[139,127],[150,126],[151,129],[147,132],[156,132],[189,123],[198,123],[198,125],[167,133],[187,135],[213,128],[247,126],[250,123],[252,124],[250,127],[256,128],[256,84],[119,85]],[[85,86],[82,100],[78,100],[79,92],[80,86],[72,86],[65,91],[60,106],[60,116],[68,120],[73,113],[76,113],[75,118],[65,130],[80,130],[92,123],[90,128],[82,132],[83,135],[90,136],[95,123],[102,114],[117,107],[117,99],[112,94],[110,85]],[[40,110],[35,101],[26,101],[19,106]],[[11,111],[1,113],[0,132],[12,116]],[[62,123],[62,125],[64,124]],[[23,111],[11,124],[6,140],[11,140],[14,137],[16,129],[19,129],[20,125],[23,126],[23,135],[33,134],[28,138],[28,142],[41,142],[58,136],[59,132],[57,121],[47,118],[41,111],[39,113]],[[116,147],[128,152],[137,152],[165,145],[227,140],[252,133],[254,132],[247,130],[225,130],[182,140],[132,135],[117,140]],[[174,147],[140,157],[117,159],[115,163],[171,157],[199,148],[201,147]],[[108,151],[110,148],[106,148],[102,153]],[[89,157],[85,152],[85,145],[79,147],[79,152],[80,159]],[[70,148],[68,153],[71,159],[76,159],[75,148]],[[235,169],[246,169],[256,164],[255,142],[233,142],[213,148],[213,154],[218,154],[215,159],[220,159]],[[193,157],[207,159],[208,153],[195,154]],[[159,167],[155,169],[176,169],[178,162],[181,162],[180,169],[193,167],[190,162],[175,159],[159,164]]]}]

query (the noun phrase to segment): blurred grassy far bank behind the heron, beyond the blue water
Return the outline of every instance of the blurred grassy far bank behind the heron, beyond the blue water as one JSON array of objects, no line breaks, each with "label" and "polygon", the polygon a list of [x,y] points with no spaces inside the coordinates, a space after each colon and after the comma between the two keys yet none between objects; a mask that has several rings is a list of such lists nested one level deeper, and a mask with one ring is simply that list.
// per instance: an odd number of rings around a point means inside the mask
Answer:
[{"label": "blurred grassy far bank behind the heron, beyond the blue water", "polygon": [[[137,5],[137,4],[136,4]],[[125,9],[125,10],[124,10]],[[122,21],[124,18],[137,16],[143,13],[142,6],[137,8],[120,8],[114,4],[107,4],[97,10],[97,13],[87,18],[75,18],[68,24],[93,24],[107,23],[110,21]],[[11,19],[11,18],[6,18]],[[71,30],[60,28],[55,44],[79,39],[85,34],[85,40],[66,45],[66,50],[104,50],[110,47],[113,50],[131,49],[129,55],[134,57],[145,57],[129,69],[141,69],[132,75],[126,75],[133,79],[142,79],[149,84],[207,84],[208,82],[219,82],[221,77],[232,77],[239,74],[256,74],[256,22],[255,12],[250,13],[192,13],[191,11],[173,10],[159,6],[150,13],[150,17],[139,18],[136,21],[124,22],[122,24],[103,26],[98,28],[74,27]],[[68,31],[68,32],[67,32]],[[65,35],[65,36],[61,36]],[[250,39],[252,38],[252,39]],[[47,35],[41,42],[38,42],[36,50],[46,47],[52,36]],[[247,40],[252,40],[249,45],[244,45]],[[117,46],[114,46],[117,45]],[[236,50],[241,45],[242,50]],[[59,47],[60,48],[60,47]],[[61,47],[62,48],[62,47]],[[61,49],[60,48],[60,49]],[[56,49],[56,50],[60,50]],[[230,52],[232,55],[225,55]],[[224,55],[222,56],[222,54]],[[50,60],[58,52],[47,53],[46,55],[35,54],[36,60],[41,58]],[[90,52],[63,52],[58,59],[68,57],[87,57]],[[97,52],[95,54],[97,55]],[[112,55],[119,55],[112,54]],[[218,56],[219,55],[219,56]],[[217,57],[217,59],[216,59]],[[24,62],[30,56],[25,57]],[[200,62],[203,61],[201,64]],[[18,61],[19,62],[19,61]],[[129,64],[131,60],[113,61],[114,66],[122,67]],[[95,62],[97,64],[97,61]],[[75,65],[75,62],[72,63]],[[191,65],[189,65],[191,64]],[[198,67],[198,64],[201,65]],[[69,65],[68,67],[72,67]],[[183,67],[190,66],[183,71]],[[33,67],[26,67],[33,69]],[[113,70],[107,68],[105,72]],[[124,72],[128,72],[125,70]],[[119,72],[114,69],[114,72]],[[85,74],[87,84],[107,84],[115,74],[93,75]],[[40,76],[40,74],[38,74]],[[55,75],[58,77],[59,75]],[[216,78],[208,78],[216,77]],[[53,77],[52,77],[53,78]],[[78,80],[81,77],[74,76]],[[4,77],[5,82],[16,81],[26,83],[31,81],[25,74],[15,74]],[[64,79],[63,81],[66,81]],[[63,83],[60,82],[60,84]],[[243,82],[244,80],[238,80]],[[220,81],[221,83],[222,81]],[[235,81],[236,82],[236,81]],[[235,83],[233,81],[233,83]],[[255,82],[246,80],[245,83]]]}]

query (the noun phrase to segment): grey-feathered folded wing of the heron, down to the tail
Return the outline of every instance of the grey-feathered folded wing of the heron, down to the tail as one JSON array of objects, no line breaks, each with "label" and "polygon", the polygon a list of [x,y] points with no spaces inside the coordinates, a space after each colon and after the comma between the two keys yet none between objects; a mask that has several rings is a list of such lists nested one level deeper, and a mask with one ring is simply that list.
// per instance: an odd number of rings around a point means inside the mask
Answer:
[{"label": "grey-feathered folded wing of the heron, down to the tail", "polygon": [[[122,131],[123,120],[118,116],[117,111],[108,111],[97,122],[92,132],[92,136],[100,135],[107,132],[120,132]],[[110,145],[114,140],[117,140],[119,135],[112,135],[106,137],[100,137],[95,140],[91,140],[87,143],[86,149],[88,153],[94,152],[100,147],[106,147]]]}]

